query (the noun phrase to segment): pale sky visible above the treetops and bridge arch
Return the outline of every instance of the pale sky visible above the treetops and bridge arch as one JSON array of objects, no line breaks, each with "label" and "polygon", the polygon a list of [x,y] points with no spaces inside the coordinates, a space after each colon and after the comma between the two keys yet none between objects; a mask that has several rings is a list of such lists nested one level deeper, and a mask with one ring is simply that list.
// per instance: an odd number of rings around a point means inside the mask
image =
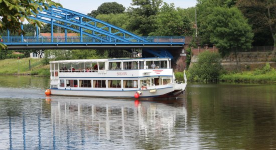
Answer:
[{"label": "pale sky visible above the treetops and bridge arch", "polygon": [[[131,6],[132,0],[53,0],[59,2],[64,8],[74,10],[83,14],[96,10],[104,2],[117,2],[125,8]],[[174,3],[176,7],[188,8],[196,5],[196,0],[163,0],[163,2]]]}]

